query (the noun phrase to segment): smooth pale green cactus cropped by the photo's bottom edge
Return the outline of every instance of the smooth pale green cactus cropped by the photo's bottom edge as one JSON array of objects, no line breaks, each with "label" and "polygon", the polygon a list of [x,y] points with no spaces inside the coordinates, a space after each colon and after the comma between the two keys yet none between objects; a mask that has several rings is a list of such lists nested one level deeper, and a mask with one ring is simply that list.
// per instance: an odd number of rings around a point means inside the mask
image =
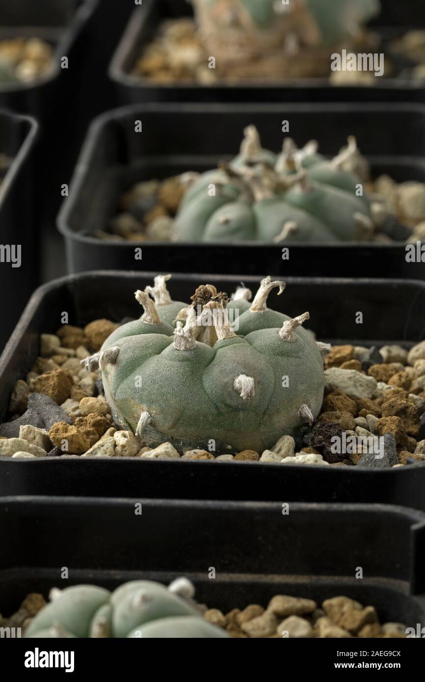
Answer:
[{"label": "smooth pale green cactus cropped by the photo's bottom edge", "polygon": [[113,593],[95,585],[50,592],[31,621],[29,638],[214,638],[228,637],[207,623],[192,600],[194,587],[179,578],[168,588],[134,580]]}]

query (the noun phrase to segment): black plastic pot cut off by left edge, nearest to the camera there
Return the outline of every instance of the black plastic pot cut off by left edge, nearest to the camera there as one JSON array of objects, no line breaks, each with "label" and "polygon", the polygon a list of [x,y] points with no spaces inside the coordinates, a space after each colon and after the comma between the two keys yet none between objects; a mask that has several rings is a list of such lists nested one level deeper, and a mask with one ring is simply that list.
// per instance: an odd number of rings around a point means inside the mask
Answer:
[{"label": "black plastic pot cut off by left edge, nearest to the camera there", "polygon": [[[0,183],[1,349],[38,284],[38,235],[31,183],[37,136],[38,124],[33,118],[0,110],[0,153],[12,160]],[[20,246],[20,261],[16,260],[18,252],[8,251],[13,246]]]}]

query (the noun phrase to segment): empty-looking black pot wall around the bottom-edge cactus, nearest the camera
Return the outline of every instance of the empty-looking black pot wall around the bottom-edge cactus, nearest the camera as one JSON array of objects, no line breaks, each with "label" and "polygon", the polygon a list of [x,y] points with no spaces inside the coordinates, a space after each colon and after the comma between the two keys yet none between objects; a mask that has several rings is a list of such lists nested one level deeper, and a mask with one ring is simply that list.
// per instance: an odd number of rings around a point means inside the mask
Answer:
[{"label": "empty-looking black pot wall around the bottom-edge cactus, nearest the camera", "polygon": [[424,537],[424,514],[384,505],[291,503],[282,516],[280,502],[8,497],[0,501],[0,612],[52,587],[184,575],[200,603],[224,612],[267,606],[276,594],[347,595],[375,606],[381,622],[415,627],[425,621]]}]

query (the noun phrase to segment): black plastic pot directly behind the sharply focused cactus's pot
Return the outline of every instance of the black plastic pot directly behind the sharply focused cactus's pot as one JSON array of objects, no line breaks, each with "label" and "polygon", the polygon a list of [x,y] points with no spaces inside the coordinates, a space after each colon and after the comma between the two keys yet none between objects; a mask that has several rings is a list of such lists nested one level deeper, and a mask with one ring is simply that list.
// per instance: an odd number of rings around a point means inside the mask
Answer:
[{"label": "black plastic pot directly behind the sharply focused cactus's pot", "polygon": [[[134,132],[134,121],[143,132]],[[101,241],[93,237],[115,216],[119,195],[142,179],[168,177],[186,170],[207,170],[235,155],[242,131],[254,123],[266,148],[280,149],[282,120],[299,145],[318,139],[325,154],[337,153],[349,134],[370,158],[375,173],[395,179],[425,180],[425,107],[419,104],[145,104],[98,117],[89,130],[74,172],[70,196],[58,218],[65,237],[70,272],[92,269],[175,271],[271,271],[285,276],[425,279],[425,263],[407,263],[405,245],[340,243],[290,246],[259,242],[160,243]],[[135,248],[142,259],[135,260]]]}]

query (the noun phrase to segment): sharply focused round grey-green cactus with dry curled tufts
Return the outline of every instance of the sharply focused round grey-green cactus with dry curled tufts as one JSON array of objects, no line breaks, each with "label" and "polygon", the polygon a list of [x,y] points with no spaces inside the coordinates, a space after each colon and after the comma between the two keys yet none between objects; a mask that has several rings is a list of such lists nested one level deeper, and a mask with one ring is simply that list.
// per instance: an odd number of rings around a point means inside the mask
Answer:
[{"label": "sharply focused round grey-green cactus with dry curled tufts", "polygon": [[149,288],[156,301],[136,292],[141,318],[116,329],[85,361],[102,370],[116,424],[151,447],[169,441],[177,449],[261,452],[317,417],[323,360],[302,327],[309,314],[291,319],[267,308],[270,291],[282,293],[284,282],[265,278],[251,305],[241,287],[228,310],[226,294],[199,286],[173,329],[161,318],[173,301],[158,304],[164,280]]}]

